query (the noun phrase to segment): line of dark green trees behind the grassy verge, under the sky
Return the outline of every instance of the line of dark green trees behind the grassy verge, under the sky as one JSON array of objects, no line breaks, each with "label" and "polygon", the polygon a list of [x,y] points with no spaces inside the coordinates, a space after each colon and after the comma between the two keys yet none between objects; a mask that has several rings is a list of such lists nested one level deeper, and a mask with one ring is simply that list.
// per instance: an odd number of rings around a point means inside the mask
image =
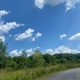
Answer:
[{"label": "line of dark green trees behind the grassy verge, under the sky", "polygon": [[9,56],[7,52],[8,44],[4,44],[0,39],[0,69],[11,68],[14,70],[24,68],[37,68],[45,66],[55,66],[57,64],[80,64],[80,53],[60,53],[51,55],[49,53],[42,54],[39,50],[35,50],[31,56],[27,56],[25,50],[20,56]]}]

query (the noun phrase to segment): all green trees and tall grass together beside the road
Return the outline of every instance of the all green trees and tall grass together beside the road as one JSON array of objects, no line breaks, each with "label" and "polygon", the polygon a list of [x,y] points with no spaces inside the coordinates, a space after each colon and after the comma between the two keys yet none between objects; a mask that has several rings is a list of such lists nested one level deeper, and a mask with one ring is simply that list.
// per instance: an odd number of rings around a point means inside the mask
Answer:
[{"label": "all green trees and tall grass together beside the road", "polygon": [[77,67],[80,67],[80,53],[51,55],[35,50],[27,57],[23,50],[21,56],[11,57],[7,52],[7,44],[0,40],[0,80],[38,80],[40,77]]}]

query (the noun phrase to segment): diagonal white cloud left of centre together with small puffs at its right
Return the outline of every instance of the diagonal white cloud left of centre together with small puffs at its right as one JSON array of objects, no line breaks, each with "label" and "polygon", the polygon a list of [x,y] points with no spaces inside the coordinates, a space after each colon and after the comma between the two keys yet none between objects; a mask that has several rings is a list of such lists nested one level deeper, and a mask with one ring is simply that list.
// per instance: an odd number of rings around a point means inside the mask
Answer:
[{"label": "diagonal white cloud left of centre together with small puffs at its right", "polygon": [[36,38],[42,36],[42,33],[40,32],[36,33],[35,36],[33,36],[33,34],[34,34],[34,29],[29,28],[24,33],[15,34],[14,37],[16,37],[15,40],[23,40],[29,38],[30,41],[35,41]]}]

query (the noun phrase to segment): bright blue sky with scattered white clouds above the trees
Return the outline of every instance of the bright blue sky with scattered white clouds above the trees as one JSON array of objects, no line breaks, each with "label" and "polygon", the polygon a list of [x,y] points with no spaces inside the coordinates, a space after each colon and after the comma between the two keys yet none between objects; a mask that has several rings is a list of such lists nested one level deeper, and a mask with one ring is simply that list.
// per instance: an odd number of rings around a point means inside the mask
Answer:
[{"label": "bright blue sky with scattered white clouds above the trees", "polygon": [[0,38],[10,56],[80,53],[80,0],[0,0]]}]

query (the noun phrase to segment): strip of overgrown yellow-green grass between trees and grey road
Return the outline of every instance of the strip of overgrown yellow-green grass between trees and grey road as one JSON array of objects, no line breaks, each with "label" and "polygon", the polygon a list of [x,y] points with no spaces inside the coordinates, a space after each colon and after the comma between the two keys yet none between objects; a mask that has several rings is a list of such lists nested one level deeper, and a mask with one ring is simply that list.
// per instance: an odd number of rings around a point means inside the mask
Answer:
[{"label": "strip of overgrown yellow-green grass between trees and grey road", "polygon": [[62,70],[77,68],[80,64],[69,63],[65,65],[56,65],[48,67],[38,67],[24,70],[0,70],[0,80],[40,80],[41,77],[51,73],[56,73]]}]

